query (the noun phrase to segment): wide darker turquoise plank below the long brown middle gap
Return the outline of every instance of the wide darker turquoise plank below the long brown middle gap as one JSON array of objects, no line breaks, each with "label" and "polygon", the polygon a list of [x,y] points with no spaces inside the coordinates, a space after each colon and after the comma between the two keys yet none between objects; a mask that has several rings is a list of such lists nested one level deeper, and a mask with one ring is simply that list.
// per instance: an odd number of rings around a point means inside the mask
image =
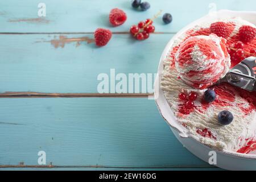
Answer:
[{"label": "wide darker turquoise plank below the long brown middle gap", "polygon": [[0,118],[0,166],[212,167],[147,98],[2,98]]}]

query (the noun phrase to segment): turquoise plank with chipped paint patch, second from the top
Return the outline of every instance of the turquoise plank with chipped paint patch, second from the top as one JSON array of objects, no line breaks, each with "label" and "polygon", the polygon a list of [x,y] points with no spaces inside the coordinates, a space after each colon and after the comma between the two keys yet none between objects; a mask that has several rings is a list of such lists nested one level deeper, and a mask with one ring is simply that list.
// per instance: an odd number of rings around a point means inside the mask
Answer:
[{"label": "turquoise plank with chipped paint patch, second from the top", "polygon": [[115,75],[127,77],[152,73],[153,85],[171,37],[154,34],[138,42],[129,34],[115,34],[107,46],[98,48],[88,44],[92,34],[0,35],[0,92],[98,93],[97,76],[110,77],[112,68]]}]

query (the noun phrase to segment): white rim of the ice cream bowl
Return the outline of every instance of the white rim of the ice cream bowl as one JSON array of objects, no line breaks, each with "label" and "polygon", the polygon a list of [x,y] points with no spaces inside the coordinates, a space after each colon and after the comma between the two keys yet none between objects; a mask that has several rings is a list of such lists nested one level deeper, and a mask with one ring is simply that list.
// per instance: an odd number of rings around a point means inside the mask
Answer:
[{"label": "white rim of the ice cream bowl", "polygon": [[[174,40],[179,37],[181,34],[183,34],[185,31],[187,31],[189,28],[196,26],[196,24],[205,21],[205,20],[209,20],[209,19],[216,19],[218,16],[226,16],[227,18],[234,18],[234,17],[243,17],[243,19],[246,19],[246,16],[251,16],[251,15],[256,15],[256,11],[232,11],[232,10],[218,10],[218,11],[214,11],[213,14],[208,14],[205,15],[191,23],[189,23],[187,26],[181,28],[180,31],[178,31],[173,37],[172,39],[166,44],[166,47],[164,48],[162,55],[160,57],[160,61],[159,61],[159,65],[158,65],[158,73],[157,76],[155,78],[155,83],[154,83],[154,96],[155,96],[155,103],[156,106],[158,107],[158,110],[160,112],[160,114],[162,115],[164,121],[167,122],[167,124],[172,127],[172,129],[175,129],[177,131],[177,133],[179,133],[179,136],[181,138],[191,138],[193,140],[196,140],[196,142],[203,144],[201,142],[199,142],[195,136],[193,136],[192,134],[189,134],[187,129],[185,129],[185,127],[181,126],[180,123],[177,122],[177,119],[173,113],[173,111],[171,110],[170,105],[168,104],[166,98],[163,95],[163,91],[162,89],[160,89],[160,81],[159,81],[159,75],[161,75],[162,71],[163,71],[163,60],[166,58],[169,50],[170,50],[170,46],[172,46],[172,44],[174,43]],[[255,20],[256,21],[256,20]],[[255,23],[256,24],[256,23]],[[168,113],[164,113],[164,110],[167,111]],[[171,112],[170,112],[171,111]],[[171,115],[170,115],[171,114]],[[167,117],[171,117],[170,119],[167,119]],[[214,150],[217,152],[220,152],[221,154],[224,155],[229,155],[232,157],[238,157],[238,158],[243,158],[243,159],[256,159],[256,154],[242,154],[242,153],[238,153],[238,152],[234,152],[234,151],[230,151],[230,150],[217,150],[216,148],[207,146],[206,144],[203,144],[204,146],[208,147],[209,150]]]}]

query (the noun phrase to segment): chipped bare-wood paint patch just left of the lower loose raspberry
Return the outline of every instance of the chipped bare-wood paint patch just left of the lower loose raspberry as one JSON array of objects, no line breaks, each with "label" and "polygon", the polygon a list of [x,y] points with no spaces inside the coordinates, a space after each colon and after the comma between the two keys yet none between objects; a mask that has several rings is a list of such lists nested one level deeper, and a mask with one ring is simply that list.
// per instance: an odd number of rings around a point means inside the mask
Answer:
[{"label": "chipped bare-wood paint patch just left of the lower loose raspberry", "polygon": [[[58,48],[58,47],[63,48],[67,43],[75,42],[76,47],[79,47],[81,45],[81,42],[86,42],[90,44],[94,42],[94,39],[89,38],[88,36],[83,36],[81,38],[67,38],[67,36],[60,35],[59,38],[55,37],[55,39],[52,39],[49,41],[43,40],[42,42],[50,42],[52,46],[54,46],[55,48]],[[36,43],[39,43],[39,42],[36,42]]]}]

